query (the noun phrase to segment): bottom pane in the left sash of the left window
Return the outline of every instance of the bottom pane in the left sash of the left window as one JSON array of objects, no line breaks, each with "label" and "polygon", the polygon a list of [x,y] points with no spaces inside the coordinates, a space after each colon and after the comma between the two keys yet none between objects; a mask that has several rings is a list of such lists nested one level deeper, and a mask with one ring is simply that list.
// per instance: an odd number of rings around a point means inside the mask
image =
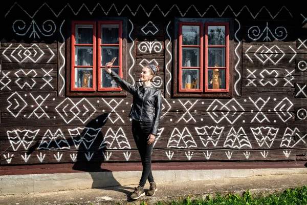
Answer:
[{"label": "bottom pane in the left sash of the left window", "polygon": [[75,88],[93,88],[92,68],[75,68]]}]

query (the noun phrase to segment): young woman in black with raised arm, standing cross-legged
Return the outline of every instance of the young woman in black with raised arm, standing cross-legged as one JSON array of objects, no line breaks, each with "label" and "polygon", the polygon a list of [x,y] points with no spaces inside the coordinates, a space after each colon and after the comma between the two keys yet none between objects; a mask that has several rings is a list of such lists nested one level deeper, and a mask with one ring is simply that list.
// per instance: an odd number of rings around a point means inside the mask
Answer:
[{"label": "young woman in black with raised arm, standing cross-legged", "polygon": [[138,199],[145,195],[144,186],[147,179],[150,184],[147,195],[153,196],[158,189],[151,172],[151,153],[160,126],[162,94],[151,85],[151,81],[158,73],[159,67],[152,64],[145,66],[140,74],[143,85],[132,86],[111,69],[112,65],[112,62],[106,63],[105,71],[123,90],[133,95],[129,117],[132,119],[132,134],[143,165],[139,185],[130,197]]}]

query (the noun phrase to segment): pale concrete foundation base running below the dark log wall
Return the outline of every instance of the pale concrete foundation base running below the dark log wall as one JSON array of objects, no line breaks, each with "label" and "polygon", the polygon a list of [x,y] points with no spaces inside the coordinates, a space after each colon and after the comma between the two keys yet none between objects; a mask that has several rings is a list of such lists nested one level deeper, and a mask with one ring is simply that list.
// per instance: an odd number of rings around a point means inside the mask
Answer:
[{"label": "pale concrete foundation base running below the dark log wall", "polygon": [[[167,183],[233,177],[307,174],[307,169],[162,170],[152,171],[152,174],[156,182]],[[0,195],[130,186],[138,184],[140,177],[141,171],[4,175],[0,176]]]}]

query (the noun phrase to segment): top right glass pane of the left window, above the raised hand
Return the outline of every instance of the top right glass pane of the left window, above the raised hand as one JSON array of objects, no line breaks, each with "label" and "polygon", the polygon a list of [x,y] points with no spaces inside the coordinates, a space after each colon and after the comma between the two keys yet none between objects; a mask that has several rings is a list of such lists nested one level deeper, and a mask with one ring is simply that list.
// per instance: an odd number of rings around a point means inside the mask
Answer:
[{"label": "top right glass pane of the left window, above the raised hand", "polygon": [[119,44],[119,25],[101,25],[101,44]]}]

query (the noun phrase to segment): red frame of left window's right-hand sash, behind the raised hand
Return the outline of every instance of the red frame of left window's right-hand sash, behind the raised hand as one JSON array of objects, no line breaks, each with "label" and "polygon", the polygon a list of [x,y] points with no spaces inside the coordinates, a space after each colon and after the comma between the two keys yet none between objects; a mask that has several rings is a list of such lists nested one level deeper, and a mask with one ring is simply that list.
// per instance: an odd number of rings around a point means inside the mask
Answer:
[{"label": "red frame of left window's right-hand sash, behind the raised hand", "polygon": [[[101,25],[112,25],[112,24],[118,24],[119,25],[119,43],[118,44],[101,44]],[[121,56],[122,56],[122,22],[120,20],[101,20],[98,21],[98,43],[97,43],[97,47],[98,47],[98,91],[121,91],[121,87],[119,88],[101,88],[101,68],[104,68],[104,65],[100,65],[101,64],[101,47],[102,46],[118,46],[118,53],[119,56],[118,57],[118,65],[114,65],[113,68],[118,68],[118,74],[120,77],[123,77],[123,72],[122,72],[122,66],[121,66]],[[115,56],[114,56],[115,57]]]}]

